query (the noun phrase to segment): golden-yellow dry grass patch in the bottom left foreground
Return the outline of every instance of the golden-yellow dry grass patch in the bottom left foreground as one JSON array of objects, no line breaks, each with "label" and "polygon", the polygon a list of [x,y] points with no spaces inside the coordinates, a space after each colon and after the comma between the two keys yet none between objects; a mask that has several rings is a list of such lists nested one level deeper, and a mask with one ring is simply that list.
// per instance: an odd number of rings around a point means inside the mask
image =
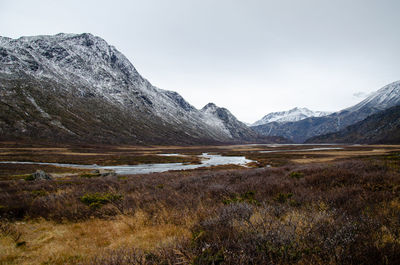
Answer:
[{"label": "golden-yellow dry grass patch in the bottom left foreground", "polygon": [[149,224],[146,213],[91,219],[79,223],[55,223],[43,219],[17,222],[25,246],[0,238],[0,264],[65,264],[101,255],[107,249],[135,246],[145,251],[189,238],[189,227]]}]

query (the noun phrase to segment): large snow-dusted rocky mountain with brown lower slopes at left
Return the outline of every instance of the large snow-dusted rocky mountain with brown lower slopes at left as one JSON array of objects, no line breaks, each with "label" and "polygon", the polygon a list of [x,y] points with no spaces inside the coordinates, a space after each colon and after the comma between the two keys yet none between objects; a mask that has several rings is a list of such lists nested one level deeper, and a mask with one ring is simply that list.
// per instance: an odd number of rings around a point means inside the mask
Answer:
[{"label": "large snow-dusted rocky mountain with brown lower slopes at left", "polygon": [[[221,115],[225,119],[224,115]],[[210,144],[256,135],[154,87],[88,33],[0,37],[0,138],[85,143]],[[224,126],[221,126],[223,124]],[[239,128],[234,126],[238,125]]]}]

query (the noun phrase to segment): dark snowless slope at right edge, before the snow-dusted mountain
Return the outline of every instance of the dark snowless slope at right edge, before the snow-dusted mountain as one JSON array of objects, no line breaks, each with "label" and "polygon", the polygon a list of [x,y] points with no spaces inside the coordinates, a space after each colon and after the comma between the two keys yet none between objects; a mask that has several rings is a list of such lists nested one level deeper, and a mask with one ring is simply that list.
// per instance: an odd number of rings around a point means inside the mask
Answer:
[{"label": "dark snowless slope at right edge, before the snow-dusted mountain", "polygon": [[306,143],[400,144],[400,105],[373,114],[336,133]]}]

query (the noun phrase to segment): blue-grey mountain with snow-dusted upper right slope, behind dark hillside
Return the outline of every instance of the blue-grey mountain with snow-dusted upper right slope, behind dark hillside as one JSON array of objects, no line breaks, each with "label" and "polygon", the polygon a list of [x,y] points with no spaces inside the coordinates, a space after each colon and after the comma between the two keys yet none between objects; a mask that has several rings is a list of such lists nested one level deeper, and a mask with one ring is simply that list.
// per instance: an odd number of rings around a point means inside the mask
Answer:
[{"label": "blue-grey mountain with snow-dusted upper right slope, behind dark hillside", "polygon": [[362,121],[368,116],[400,104],[400,81],[393,82],[355,106],[323,117],[310,117],[296,122],[271,122],[253,126],[252,129],[267,136],[282,136],[293,142],[338,132],[349,125]]}]

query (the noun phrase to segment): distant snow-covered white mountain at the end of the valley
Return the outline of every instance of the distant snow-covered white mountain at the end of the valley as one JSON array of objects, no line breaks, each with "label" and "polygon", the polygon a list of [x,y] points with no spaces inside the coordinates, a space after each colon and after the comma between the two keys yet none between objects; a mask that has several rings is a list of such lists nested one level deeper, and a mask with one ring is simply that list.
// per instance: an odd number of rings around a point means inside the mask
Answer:
[{"label": "distant snow-covered white mountain at the end of the valley", "polygon": [[307,108],[294,108],[287,111],[271,112],[265,115],[261,120],[256,121],[251,126],[258,126],[270,122],[285,123],[292,121],[300,121],[309,117],[322,117],[329,115],[326,111],[312,111]]}]

